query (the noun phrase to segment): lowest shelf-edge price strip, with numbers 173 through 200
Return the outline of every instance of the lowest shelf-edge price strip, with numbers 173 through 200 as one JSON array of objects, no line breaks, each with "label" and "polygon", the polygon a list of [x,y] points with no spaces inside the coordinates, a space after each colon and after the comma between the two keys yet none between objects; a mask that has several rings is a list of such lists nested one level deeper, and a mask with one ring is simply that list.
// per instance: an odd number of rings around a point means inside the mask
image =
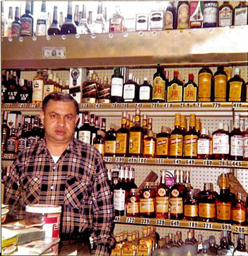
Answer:
[{"label": "lowest shelf-edge price strip, with numbers 173 through 200", "polygon": [[159,227],[228,230],[233,233],[248,234],[247,226],[222,224],[222,223],[216,223],[216,222],[199,222],[199,221],[189,221],[189,220],[140,218],[140,217],[124,217],[124,216],[121,216],[121,217],[115,216],[114,222],[120,223],[120,224],[156,225]]}]

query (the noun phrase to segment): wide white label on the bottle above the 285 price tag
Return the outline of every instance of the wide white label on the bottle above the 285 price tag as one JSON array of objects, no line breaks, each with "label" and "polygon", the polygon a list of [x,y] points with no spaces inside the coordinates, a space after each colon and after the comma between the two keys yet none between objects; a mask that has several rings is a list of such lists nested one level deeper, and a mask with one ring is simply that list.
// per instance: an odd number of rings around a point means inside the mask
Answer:
[{"label": "wide white label on the bottle above the 285 price tag", "polygon": [[225,133],[216,133],[212,136],[212,153],[228,154],[229,153],[229,137]]}]

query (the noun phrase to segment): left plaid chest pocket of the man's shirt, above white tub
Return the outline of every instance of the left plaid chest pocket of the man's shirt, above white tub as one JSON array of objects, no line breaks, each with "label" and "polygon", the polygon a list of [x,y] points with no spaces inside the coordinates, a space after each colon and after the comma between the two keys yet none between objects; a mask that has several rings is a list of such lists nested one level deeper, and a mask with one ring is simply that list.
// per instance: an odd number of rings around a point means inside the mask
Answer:
[{"label": "left plaid chest pocket of the man's shirt, above white tub", "polygon": [[24,204],[39,203],[39,195],[41,193],[42,177],[39,175],[25,175],[22,179],[23,183],[23,202]]}]

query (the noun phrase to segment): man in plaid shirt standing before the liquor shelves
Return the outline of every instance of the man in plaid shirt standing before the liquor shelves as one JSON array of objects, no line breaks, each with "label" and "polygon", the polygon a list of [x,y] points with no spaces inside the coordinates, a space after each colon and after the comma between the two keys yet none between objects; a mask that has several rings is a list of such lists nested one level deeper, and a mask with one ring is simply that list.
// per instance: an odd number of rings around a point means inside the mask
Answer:
[{"label": "man in plaid shirt standing before the liquor shelves", "polygon": [[92,233],[91,254],[108,255],[114,243],[114,207],[103,158],[74,138],[78,103],[67,93],[43,100],[43,140],[19,153],[6,185],[6,204],[24,218],[27,204],[62,206],[62,238]]}]

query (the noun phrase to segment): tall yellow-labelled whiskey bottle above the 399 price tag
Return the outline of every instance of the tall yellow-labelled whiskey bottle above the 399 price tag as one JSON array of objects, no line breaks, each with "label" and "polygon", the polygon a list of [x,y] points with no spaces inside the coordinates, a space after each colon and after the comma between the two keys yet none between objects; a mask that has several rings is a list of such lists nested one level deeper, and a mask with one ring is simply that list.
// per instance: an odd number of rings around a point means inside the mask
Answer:
[{"label": "tall yellow-labelled whiskey bottle above the 399 price tag", "polygon": [[117,156],[126,157],[128,155],[129,131],[126,128],[127,112],[122,112],[122,127],[117,131],[116,151]]}]

